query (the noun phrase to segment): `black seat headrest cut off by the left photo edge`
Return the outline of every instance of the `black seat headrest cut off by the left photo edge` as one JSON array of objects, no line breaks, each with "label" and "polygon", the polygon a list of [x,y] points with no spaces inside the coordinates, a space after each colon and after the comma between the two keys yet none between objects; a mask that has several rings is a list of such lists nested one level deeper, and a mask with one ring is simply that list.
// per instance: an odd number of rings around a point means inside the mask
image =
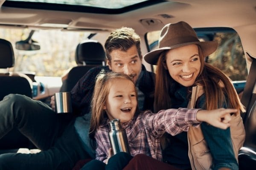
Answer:
[{"label": "black seat headrest cut off by the left photo edge", "polygon": [[14,66],[14,53],[11,42],[0,39],[0,68]]}]

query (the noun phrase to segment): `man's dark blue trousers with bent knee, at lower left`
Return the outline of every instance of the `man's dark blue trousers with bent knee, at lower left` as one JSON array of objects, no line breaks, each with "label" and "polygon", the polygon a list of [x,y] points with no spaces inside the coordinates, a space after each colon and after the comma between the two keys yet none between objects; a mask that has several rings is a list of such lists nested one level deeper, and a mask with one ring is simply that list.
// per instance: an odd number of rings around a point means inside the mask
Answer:
[{"label": "man's dark blue trousers with bent knee, at lower left", "polygon": [[0,138],[17,128],[42,151],[1,154],[0,170],[72,169],[76,161],[88,158],[76,134],[74,120],[72,115],[56,114],[43,102],[29,97],[6,96],[0,101]]}]

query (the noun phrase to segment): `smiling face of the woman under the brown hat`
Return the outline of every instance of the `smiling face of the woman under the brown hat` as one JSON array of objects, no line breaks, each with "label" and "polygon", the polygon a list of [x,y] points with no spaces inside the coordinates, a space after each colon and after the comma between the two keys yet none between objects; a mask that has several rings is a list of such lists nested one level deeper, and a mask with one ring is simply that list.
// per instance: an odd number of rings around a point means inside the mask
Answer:
[{"label": "smiling face of the woman under the brown hat", "polygon": [[166,65],[176,82],[185,87],[193,85],[201,67],[198,46],[192,44],[171,49],[166,53]]}]

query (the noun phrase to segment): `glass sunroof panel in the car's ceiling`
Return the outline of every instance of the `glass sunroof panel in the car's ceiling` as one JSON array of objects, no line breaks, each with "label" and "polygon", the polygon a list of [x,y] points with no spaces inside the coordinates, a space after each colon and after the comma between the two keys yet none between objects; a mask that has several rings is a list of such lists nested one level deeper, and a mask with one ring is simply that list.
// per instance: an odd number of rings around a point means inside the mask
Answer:
[{"label": "glass sunroof panel in the car's ceiling", "polygon": [[95,14],[122,14],[168,0],[5,0],[2,6]]}]

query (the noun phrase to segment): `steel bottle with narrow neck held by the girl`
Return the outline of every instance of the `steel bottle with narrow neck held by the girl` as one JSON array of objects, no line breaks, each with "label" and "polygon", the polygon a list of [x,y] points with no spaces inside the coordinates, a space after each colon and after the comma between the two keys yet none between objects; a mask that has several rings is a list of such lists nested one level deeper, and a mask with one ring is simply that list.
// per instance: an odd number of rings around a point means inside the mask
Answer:
[{"label": "steel bottle with narrow neck held by the girl", "polygon": [[108,122],[108,125],[110,127],[108,137],[113,155],[119,152],[130,153],[127,135],[125,129],[121,127],[120,119],[113,119]]}]

